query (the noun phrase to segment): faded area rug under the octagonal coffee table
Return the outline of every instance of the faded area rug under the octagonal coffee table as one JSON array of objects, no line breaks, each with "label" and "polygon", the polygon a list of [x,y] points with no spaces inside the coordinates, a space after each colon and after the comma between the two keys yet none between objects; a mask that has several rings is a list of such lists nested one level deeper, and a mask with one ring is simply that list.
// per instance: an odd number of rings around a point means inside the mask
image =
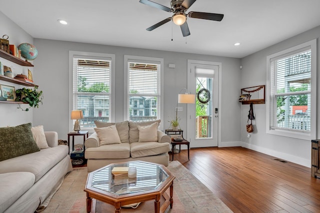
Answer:
[{"label": "faded area rug under the octagonal coffee table", "polygon": [[[232,213],[208,188],[197,180],[178,161],[167,167],[175,176],[173,181],[173,208],[165,213]],[[55,193],[43,213],[85,213],[86,168],[74,168],[67,175],[61,188]],[[108,204],[93,199],[92,213],[114,213]],[[154,211],[153,201],[141,203],[136,209],[122,208],[121,212],[146,213]]]}]

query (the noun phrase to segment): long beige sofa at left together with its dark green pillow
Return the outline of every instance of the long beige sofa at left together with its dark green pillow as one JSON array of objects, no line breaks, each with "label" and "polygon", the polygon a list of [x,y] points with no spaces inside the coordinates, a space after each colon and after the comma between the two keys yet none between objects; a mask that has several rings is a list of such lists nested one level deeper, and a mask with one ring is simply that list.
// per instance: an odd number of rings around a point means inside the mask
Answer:
[{"label": "long beige sofa at left together with its dark green pillow", "polygon": [[58,145],[57,133],[43,132],[46,148],[40,149],[30,128],[0,128],[0,213],[43,210],[72,170],[68,146]]}]

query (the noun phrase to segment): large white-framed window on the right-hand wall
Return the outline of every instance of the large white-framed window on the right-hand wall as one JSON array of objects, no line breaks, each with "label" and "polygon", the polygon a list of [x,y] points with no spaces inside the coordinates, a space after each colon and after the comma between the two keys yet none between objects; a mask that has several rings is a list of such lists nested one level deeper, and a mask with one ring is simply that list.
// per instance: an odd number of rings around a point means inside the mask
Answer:
[{"label": "large white-framed window on the right-hand wall", "polygon": [[[309,140],[315,136],[315,41],[267,57],[267,132]],[[312,116],[313,115],[313,116]],[[312,132],[313,130],[313,132]]]}]

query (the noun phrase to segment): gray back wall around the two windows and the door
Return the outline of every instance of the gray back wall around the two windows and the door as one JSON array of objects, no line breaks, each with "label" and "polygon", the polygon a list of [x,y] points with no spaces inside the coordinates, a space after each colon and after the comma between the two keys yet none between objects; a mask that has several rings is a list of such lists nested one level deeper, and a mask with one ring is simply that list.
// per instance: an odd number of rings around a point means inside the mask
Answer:
[{"label": "gray back wall around the two windows and the door", "polygon": [[[124,55],[158,57],[164,59],[164,116],[163,127],[167,128],[170,118],[174,117],[177,93],[186,87],[187,59],[215,61],[222,63],[222,119],[221,143],[237,142],[240,139],[240,116],[237,97],[240,82],[240,59],[198,55],[179,52],[158,51],[149,49],[106,46],[88,43],[76,43],[46,39],[34,39],[38,49],[35,61],[34,81],[43,91],[43,105],[33,110],[33,125],[43,125],[45,130],[58,132],[60,139],[66,139],[67,133],[72,131],[69,124],[68,96],[69,89],[69,50],[115,54],[115,121],[123,121],[123,73]],[[168,64],[175,64],[175,68],[168,68]],[[186,109],[179,113],[181,128],[186,130]]]}]

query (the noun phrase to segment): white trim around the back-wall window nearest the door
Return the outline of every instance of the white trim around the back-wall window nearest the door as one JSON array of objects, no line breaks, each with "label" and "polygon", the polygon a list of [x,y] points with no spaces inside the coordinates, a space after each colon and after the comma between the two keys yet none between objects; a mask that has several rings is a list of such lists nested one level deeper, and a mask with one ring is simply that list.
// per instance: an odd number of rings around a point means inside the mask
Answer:
[{"label": "white trim around the back-wall window nearest the door", "polygon": [[154,57],[146,57],[146,56],[135,56],[135,55],[124,55],[124,95],[123,95],[123,118],[128,120],[128,61],[138,61],[143,63],[157,63],[160,65],[160,122],[159,129],[163,129],[163,58],[154,58]]}]

